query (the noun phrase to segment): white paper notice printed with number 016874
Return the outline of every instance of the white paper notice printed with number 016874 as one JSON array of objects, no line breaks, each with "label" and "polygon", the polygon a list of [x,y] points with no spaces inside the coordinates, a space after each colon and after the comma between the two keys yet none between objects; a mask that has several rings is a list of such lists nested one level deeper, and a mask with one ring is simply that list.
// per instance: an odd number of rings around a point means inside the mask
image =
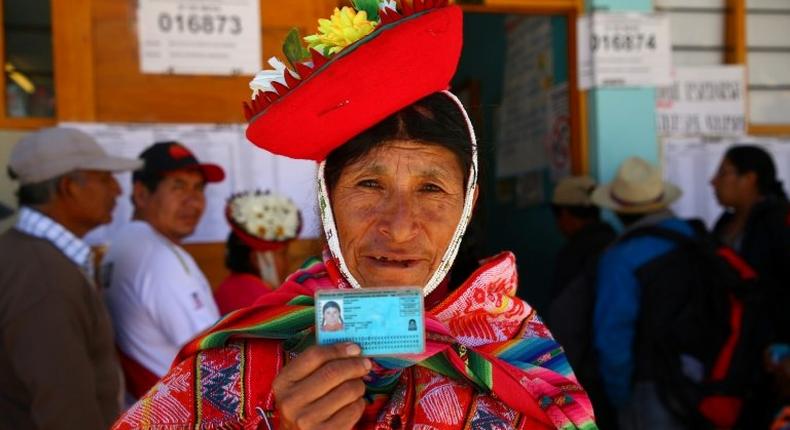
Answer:
[{"label": "white paper notice printed with number 016874", "polygon": [[669,17],[595,13],[577,21],[579,87],[652,87],[672,83]]}]

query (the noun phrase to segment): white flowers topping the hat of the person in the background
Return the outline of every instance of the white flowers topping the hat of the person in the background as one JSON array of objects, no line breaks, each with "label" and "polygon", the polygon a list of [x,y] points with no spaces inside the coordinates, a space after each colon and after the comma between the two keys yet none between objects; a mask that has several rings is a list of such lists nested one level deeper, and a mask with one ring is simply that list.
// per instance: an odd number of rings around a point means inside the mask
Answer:
[{"label": "white flowers topping the hat of the person in the background", "polygon": [[269,242],[285,242],[299,234],[299,209],[288,198],[268,191],[231,197],[231,220],[248,234]]}]

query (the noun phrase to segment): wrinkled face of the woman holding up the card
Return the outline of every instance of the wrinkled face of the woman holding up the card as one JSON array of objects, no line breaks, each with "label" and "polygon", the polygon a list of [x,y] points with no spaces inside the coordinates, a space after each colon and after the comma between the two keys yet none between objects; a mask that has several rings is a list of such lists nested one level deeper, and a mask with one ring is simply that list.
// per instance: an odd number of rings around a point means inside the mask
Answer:
[{"label": "wrinkled face of the woman holding up the card", "polygon": [[463,181],[449,149],[412,141],[343,168],[331,201],[354,278],[363,287],[424,286],[461,219]]}]

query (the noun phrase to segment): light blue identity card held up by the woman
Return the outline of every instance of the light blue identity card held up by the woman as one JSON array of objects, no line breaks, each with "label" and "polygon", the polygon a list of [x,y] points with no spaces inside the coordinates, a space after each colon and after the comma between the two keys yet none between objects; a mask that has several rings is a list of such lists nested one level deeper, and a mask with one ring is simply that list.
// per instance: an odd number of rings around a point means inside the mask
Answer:
[{"label": "light blue identity card held up by the woman", "polygon": [[366,356],[419,354],[425,350],[422,289],[320,290],[315,326],[319,345],[354,342]]}]

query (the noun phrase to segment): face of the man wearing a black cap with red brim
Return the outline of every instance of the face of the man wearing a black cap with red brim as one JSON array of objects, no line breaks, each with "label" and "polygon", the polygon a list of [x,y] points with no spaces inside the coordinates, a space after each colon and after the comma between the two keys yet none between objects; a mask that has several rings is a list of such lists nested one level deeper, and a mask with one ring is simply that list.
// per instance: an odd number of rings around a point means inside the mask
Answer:
[{"label": "face of the man wearing a black cap with red brim", "polygon": [[192,234],[206,208],[206,181],[197,170],[168,173],[154,192],[134,185],[139,217],[168,239],[179,242]]}]

